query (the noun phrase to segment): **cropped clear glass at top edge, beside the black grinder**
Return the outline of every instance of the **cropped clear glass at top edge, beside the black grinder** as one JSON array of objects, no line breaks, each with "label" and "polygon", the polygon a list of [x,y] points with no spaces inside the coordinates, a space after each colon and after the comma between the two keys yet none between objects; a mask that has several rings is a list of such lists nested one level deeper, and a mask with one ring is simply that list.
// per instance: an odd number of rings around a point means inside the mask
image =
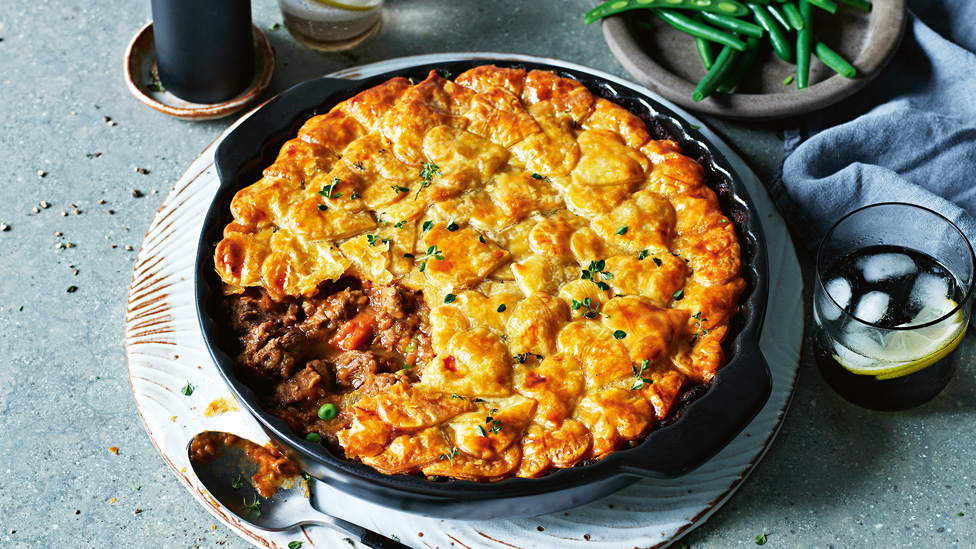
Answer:
[{"label": "cropped clear glass at top edge, beside the black grinder", "polygon": [[384,0],[278,0],[285,28],[318,51],[355,47],[380,29]]}]

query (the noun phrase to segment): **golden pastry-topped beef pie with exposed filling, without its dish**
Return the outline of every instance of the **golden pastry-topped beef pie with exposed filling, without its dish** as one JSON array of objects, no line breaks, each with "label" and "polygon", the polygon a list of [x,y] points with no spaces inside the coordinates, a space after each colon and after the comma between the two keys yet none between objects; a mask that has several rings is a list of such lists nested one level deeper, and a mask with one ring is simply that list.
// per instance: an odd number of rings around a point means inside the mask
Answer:
[{"label": "golden pastry-topped beef pie with exposed filling, without its dish", "polygon": [[600,459],[722,366],[735,229],[677,143],[579,82],[482,66],[310,118],[216,249],[241,376],[383,473]]}]

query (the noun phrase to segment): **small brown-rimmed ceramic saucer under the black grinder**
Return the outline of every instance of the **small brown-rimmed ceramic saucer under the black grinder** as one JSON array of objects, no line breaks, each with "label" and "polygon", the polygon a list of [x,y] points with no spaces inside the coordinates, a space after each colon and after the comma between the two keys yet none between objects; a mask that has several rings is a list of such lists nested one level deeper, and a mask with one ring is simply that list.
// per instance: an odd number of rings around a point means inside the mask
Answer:
[{"label": "small brown-rimmed ceramic saucer under the black grinder", "polygon": [[254,79],[238,94],[222,103],[191,103],[165,91],[154,91],[152,73],[156,67],[152,22],[139,29],[125,52],[125,83],[132,95],[157,111],[185,120],[213,120],[229,116],[261,95],[274,74],[274,51],[268,38],[256,26],[254,30]]}]

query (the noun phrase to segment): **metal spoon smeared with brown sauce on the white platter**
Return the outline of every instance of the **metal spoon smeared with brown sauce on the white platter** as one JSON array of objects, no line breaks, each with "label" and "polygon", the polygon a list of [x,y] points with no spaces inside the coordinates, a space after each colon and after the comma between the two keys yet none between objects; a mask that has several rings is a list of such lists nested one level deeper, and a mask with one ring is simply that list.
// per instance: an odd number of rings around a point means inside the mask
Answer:
[{"label": "metal spoon smeared with brown sauce on the white platter", "polygon": [[[285,482],[270,499],[261,498],[248,479],[257,470],[239,445],[223,446],[208,463],[194,461],[193,472],[210,494],[242,521],[272,532],[291,530],[303,524],[329,526],[376,549],[410,549],[406,545],[351,522],[327,515],[312,507],[308,484],[302,476]],[[235,489],[234,486],[238,488]],[[254,502],[259,502],[254,504]]]}]

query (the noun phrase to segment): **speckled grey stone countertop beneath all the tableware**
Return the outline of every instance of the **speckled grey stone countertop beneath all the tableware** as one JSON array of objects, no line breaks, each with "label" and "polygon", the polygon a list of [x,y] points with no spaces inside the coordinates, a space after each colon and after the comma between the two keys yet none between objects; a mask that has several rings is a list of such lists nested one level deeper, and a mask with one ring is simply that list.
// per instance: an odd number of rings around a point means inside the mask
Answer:
[{"label": "speckled grey stone countertop beneath all the tableware", "polygon": [[[348,66],[452,51],[556,57],[628,78],[599,26],[583,26],[591,6],[388,0],[372,41],[320,54],[270,30],[277,4],[253,0],[278,63],[264,97]],[[129,94],[123,55],[149,20],[146,0],[0,2],[0,547],[249,546],[175,479],[128,380],[140,243],[172,185],[234,120],[176,120]],[[777,124],[706,121],[768,181],[782,156]],[[811,257],[801,264],[809,288]],[[884,414],[831,392],[808,334],[771,449],[674,545],[751,547],[765,531],[769,547],[976,547],[974,338],[941,395]]]}]

